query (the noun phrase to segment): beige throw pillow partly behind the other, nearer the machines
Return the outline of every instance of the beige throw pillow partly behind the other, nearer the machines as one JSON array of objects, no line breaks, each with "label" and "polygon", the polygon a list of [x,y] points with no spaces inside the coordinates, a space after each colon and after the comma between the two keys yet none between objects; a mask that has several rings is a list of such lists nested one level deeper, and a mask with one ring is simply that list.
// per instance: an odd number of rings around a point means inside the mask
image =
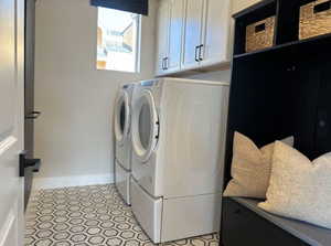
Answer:
[{"label": "beige throw pillow partly behind the other, nearer the machines", "polygon": [[[293,146],[293,137],[282,141]],[[232,180],[225,189],[224,196],[265,199],[269,186],[271,159],[275,143],[261,149],[246,136],[235,132],[233,145]]]}]

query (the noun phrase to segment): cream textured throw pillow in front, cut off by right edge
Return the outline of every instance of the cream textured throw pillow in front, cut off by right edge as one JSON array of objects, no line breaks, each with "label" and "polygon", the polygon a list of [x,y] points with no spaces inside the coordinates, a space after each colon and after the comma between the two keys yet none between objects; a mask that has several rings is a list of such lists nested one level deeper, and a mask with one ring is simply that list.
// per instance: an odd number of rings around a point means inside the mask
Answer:
[{"label": "cream textured throw pillow in front, cut off by right edge", "polygon": [[331,228],[331,153],[313,162],[276,142],[267,201],[270,213]]}]

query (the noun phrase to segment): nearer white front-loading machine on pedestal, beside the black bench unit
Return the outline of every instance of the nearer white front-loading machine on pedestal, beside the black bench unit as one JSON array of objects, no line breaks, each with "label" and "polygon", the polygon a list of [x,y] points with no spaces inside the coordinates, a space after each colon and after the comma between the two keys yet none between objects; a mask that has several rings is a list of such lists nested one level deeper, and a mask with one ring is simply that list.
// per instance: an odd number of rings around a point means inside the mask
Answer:
[{"label": "nearer white front-loading machine on pedestal, beside the black bench unit", "polygon": [[160,78],[132,96],[132,211],[153,243],[220,231],[228,83]]}]

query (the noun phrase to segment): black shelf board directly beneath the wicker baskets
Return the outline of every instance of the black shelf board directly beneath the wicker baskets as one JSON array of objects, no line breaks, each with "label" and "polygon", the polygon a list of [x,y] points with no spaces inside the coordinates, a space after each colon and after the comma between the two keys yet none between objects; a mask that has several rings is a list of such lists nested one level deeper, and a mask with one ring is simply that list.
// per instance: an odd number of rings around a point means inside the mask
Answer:
[{"label": "black shelf board directly beneath the wicker baskets", "polygon": [[[254,52],[249,52],[249,53],[243,53],[243,54],[237,54],[234,55],[234,60],[239,60],[239,58],[244,58],[244,57],[250,57],[254,55],[258,55],[258,54],[265,54],[268,52],[273,52],[273,51],[280,51],[284,49],[300,49],[300,47],[308,47],[310,45],[317,46],[317,45],[330,45],[331,43],[331,33],[329,34],[324,34],[324,35],[320,35],[320,36],[314,36],[314,38],[310,38],[307,40],[298,40],[298,41],[293,41],[293,42],[288,42],[285,44],[279,44],[279,45],[275,45],[271,47],[267,47],[267,49],[263,49],[263,50],[258,50],[258,51],[254,51]],[[316,49],[316,51],[320,51],[320,49]],[[309,52],[313,52],[312,49],[307,50],[307,53]]]}]

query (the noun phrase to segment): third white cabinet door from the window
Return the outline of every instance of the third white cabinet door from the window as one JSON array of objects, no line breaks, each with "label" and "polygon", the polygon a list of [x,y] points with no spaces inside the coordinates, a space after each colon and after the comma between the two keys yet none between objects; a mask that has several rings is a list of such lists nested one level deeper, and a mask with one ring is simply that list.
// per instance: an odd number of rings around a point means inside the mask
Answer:
[{"label": "third white cabinet door from the window", "polygon": [[184,69],[199,66],[196,46],[202,43],[202,28],[205,0],[188,0],[185,8],[184,45],[182,67]]}]

